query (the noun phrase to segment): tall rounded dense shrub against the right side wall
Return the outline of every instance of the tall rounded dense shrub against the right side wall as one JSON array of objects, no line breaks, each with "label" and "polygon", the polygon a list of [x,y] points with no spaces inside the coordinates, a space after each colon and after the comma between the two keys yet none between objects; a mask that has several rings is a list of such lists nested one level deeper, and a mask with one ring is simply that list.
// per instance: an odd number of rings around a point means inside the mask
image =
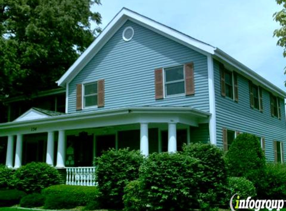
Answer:
[{"label": "tall rounded dense shrub against the right side wall", "polygon": [[265,167],[265,156],[257,136],[242,133],[232,143],[226,154],[231,176],[251,177]]}]

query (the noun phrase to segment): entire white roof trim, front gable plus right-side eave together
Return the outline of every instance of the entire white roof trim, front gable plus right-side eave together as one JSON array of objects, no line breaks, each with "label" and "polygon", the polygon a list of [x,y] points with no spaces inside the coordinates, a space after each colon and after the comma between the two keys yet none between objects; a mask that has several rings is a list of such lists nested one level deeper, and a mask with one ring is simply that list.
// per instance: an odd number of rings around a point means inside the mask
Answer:
[{"label": "entire white roof trim, front gable plus right-side eave together", "polygon": [[236,67],[244,76],[250,79],[255,79],[259,83],[263,84],[264,88],[267,88],[272,92],[276,92],[286,98],[286,92],[284,90],[277,87],[232,56],[228,55],[223,50],[124,7],[115,15],[115,17],[108,23],[104,30],[96,37],[96,39],[89,45],[89,47],[86,48],[86,50],[69,67],[69,69],[61,76],[61,78],[56,81],[57,84],[59,86],[65,86],[67,83],[69,83],[69,81],[71,81],[78,74],[78,72],[92,59],[92,57],[104,46],[104,44],[127,20],[136,22],[137,24],[149,28],[150,30],[153,30],[163,36],[166,36],[174,41],[197,50],[200,53],[205,55],[213,55],[215,58],[221,61],[225,61],[226,63]]}]

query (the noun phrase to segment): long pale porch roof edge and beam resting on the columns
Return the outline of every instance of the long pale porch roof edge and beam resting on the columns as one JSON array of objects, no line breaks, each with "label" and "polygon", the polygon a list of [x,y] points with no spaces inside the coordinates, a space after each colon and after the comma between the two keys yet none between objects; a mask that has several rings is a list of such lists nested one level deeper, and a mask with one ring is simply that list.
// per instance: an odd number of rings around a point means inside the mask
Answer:
[{"label": "long pale porch roof edge and beam resting on the columns", "polygon": [[1,123],[0,136],[140,122],[178,122],[198,126],[199,123],[208,122],[210,115],[192,107],[124,107]]}]

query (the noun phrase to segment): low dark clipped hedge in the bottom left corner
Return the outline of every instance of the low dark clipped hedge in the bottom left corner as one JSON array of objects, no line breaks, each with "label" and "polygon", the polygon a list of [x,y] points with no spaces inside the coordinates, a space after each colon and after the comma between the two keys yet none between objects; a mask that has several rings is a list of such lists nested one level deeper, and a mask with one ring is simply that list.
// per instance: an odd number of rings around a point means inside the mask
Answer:
[{"label": "low dark clipped hedge in the bottom left corner", "polygon": [[18,204],[26,193],[17,189],[0,190],[0,206],[11,206]]}]

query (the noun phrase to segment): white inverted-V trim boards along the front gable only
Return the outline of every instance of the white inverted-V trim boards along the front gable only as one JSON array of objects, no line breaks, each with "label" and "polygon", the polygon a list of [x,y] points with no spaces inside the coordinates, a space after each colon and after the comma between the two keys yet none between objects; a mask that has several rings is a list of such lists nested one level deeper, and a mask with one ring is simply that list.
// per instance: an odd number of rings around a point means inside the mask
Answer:
[{"label": "white inverted-V trim boards along the front gable only", "polygon": [[158,32],[170,39],[173,39],[181,44],[193,48],[205,55],[214,54],[215,47],[194,39],[186,34],[183,34],[166,25],[142,16],[134,11],[123,8],[121,11],[108,23],[103,31],[95,38],[89,47],[79,56],[79,58],[69,67],[69,69],[56,81],[59,86],[64,86],[66,82],[72,80],[75,75],[91,60],[91,58],[104,46],[104,44],[114,35],[114,33],[130,19],[138,24]]}]

